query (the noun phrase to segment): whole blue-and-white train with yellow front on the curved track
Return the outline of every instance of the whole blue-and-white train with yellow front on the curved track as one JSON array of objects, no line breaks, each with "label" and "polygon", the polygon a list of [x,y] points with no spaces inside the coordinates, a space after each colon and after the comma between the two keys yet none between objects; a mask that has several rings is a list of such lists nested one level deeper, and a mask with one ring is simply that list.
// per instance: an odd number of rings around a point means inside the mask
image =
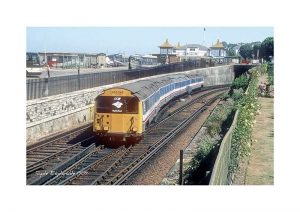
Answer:
[{"label": "whole blue-and-white train with yellow front on the curved track", "polygon": [[93,131],[105,141],[140,140],[166,103],[203,83],[203,77],[196,74],[175,74],[104,90],[95,99]]}]

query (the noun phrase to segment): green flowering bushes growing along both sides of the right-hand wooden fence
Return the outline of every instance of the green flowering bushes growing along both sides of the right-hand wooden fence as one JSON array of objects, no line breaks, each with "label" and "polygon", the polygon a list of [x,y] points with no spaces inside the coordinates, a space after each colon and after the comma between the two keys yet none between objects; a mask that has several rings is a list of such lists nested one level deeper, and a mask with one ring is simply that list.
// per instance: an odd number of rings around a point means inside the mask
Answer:
[{"label": "green flowering bushes growing along both sides of the right-hand wooden fence", "polygon": [[207,169],[203,172],[203,168],[208,167],[211,163],[209,160],[215,160],[222,137],[229,129],[233,114],[237,110],[239,115],[232,136],[229,177],[239,170],[239,162],[251,154],[253,124],[255,116],[260,113],[258,77],[268,72],[271,72],[268,65],[262,65],[234,80],[231,91],[224,98],[224,103],[214,110],[204,125],[206,135],[201,139],[201,145],[184,173],[185,184],[203,184],[204,178],[209,177],[209,172],[205,173]]}]

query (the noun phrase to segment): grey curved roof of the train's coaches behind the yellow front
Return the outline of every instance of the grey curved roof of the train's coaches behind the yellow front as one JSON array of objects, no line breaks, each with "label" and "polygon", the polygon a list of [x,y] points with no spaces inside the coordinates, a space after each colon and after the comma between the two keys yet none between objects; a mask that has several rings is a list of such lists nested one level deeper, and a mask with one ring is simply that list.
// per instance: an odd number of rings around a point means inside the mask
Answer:
[{"label": "grey curved roof of the train's coaches behind the yellow front", "polygon": [[151,94],[159,90],[159,88],[178,81],[188,80],[199,76],[197,74],[175,74],[170,76],[155,77],[145,80],[138,80],[134,83],[129,83],[120,86],[120,88],[127,89],[133,93],[140,100],[144,100]]}]

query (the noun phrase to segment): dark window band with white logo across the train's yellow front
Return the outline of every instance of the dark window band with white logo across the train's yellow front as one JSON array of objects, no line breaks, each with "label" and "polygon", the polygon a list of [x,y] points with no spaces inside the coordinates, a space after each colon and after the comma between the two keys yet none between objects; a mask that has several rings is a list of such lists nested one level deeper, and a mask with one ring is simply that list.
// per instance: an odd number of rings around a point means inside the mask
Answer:
[{"label": "dark window band with white logo across the train's yellow front", "polygon": [[134,96],[99,96],[97,113],[138,113],[139,99]]}]

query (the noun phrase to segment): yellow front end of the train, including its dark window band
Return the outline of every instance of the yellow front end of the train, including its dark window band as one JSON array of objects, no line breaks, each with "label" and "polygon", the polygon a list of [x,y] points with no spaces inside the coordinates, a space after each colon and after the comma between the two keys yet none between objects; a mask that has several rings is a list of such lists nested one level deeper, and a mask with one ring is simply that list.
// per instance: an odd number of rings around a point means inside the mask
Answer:
[{"label": "yellow front end of the train, including its dark window band", "polygon": [[108,142],[139,140],[142,117],[142,103],[131,91],[107,89],[95,99],[93,131]]}]

